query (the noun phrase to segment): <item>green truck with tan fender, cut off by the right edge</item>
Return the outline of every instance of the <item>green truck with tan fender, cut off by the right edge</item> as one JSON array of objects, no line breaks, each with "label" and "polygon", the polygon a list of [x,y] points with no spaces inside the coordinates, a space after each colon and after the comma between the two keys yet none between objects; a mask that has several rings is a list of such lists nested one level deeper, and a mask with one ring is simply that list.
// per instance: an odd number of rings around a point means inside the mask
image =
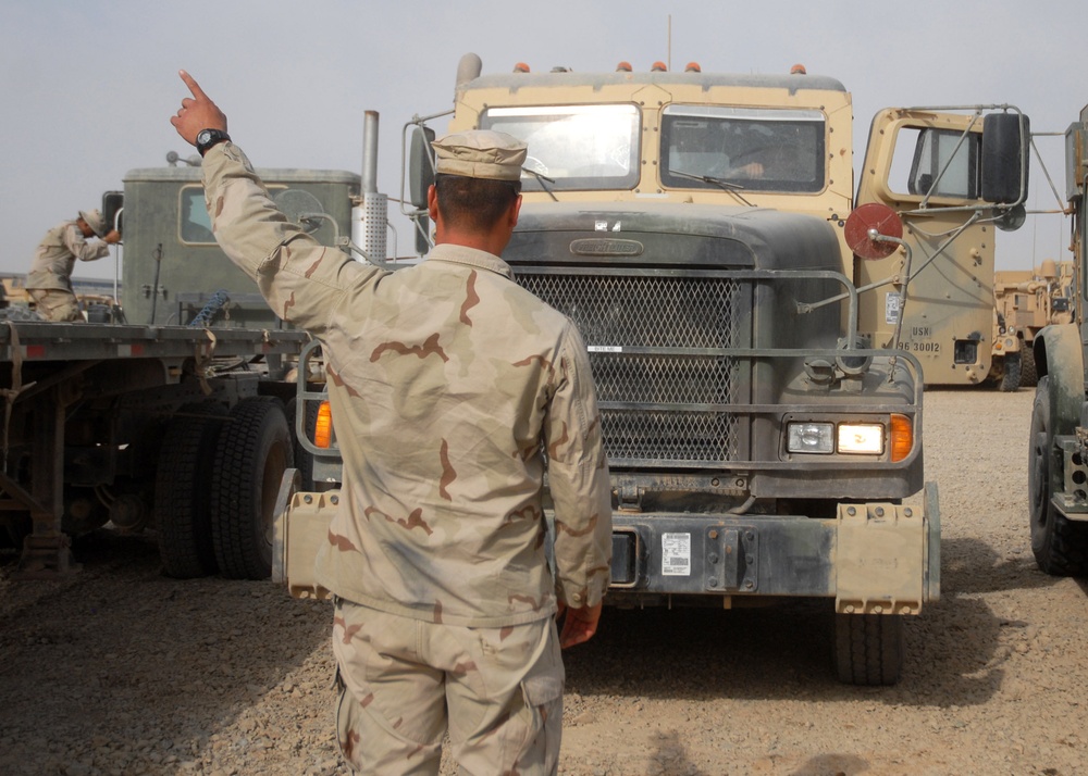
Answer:
[{"label": "green truck with tan fender, cut off by the right edge", "polygon": [[1088,107],[1065,132],[1066,212],[1072,216],[1071,311],[1035,337],[1039,376],[1028,438],[1031,551],[1039,568],[1059,576],[1088,575]]}]

